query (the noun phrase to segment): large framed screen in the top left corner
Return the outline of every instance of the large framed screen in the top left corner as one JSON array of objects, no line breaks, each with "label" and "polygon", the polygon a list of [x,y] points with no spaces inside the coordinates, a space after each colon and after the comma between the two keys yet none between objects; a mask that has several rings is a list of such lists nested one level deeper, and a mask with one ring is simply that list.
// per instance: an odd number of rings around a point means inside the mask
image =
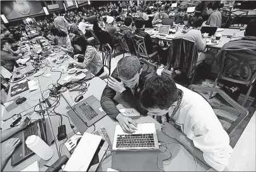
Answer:
[{"label": "large framed screen in the top left corner", "polygon": [[1,1],[1,11],[8,21],[45,14],[40,1]]}]

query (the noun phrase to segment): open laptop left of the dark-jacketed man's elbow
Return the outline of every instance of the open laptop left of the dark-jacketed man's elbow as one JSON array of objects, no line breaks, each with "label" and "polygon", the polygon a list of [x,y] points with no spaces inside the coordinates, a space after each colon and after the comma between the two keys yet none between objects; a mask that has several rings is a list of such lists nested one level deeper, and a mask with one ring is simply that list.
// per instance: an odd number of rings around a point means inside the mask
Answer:
[{"label": "open laptop left of the dark-jacketed man's elbow", "polygon": [[[65,99],[65,98],[64,98]],[[69,104],[68,101],[66,101]],[[105,117],[107,114],[102,109],[100,105],[100,101],[96,99],[93,95],[82,100],[78,104],[73,107],[69,104],[71,109],[74,110],[76,115],[81,119],[81,121],[86,124],[86,126],[90,127],[95,124],[97,121]]]}]

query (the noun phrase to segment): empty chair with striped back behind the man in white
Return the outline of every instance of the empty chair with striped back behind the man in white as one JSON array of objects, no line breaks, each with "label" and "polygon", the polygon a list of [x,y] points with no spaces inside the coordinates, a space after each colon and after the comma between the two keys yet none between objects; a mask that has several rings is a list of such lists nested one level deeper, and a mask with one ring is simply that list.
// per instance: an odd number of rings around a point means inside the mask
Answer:
[{"label": "empty chair with striped back behind the man in white", "polygon": [[[221,124],[224,126],[223,128],[226,130],[228,135],[233,132],[236,127],[248,116],[248,110],[245,107],[242,107],[240,104],[236,103],[235,100],[231,99],[223,90],[211,87],[199,87],[197,85],[189,85],[190,90],[194,90],[202,96],[203,93],[216,92],[219,94],[224,100],[226,100],[227,104],[219,104],[218,101],[213,102],[211,100],[207,100],[214,110],[216,116],[218,117]],[[204,97],[204,96],[203,96]],[[228,118],[229,116],[230,118]],[[228,123],[228,124],[227,124]],[[229,126],[229,127],[228,127]]]}]

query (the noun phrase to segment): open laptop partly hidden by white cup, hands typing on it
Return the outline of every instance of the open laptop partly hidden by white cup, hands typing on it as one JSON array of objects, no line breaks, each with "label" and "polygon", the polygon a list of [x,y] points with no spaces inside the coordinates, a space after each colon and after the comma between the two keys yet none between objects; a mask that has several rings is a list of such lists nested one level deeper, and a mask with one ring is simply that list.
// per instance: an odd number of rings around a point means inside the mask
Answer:
[{"label": "open laptop partly hidden by white cup, hands typing on it", "polygon": [[[40,102],[40,110],[42,110],[42,104]],[[14,153],[11,156],[11,166],[15,166],[21,161],[24,161],[28,157],[32,156],[34,152],[29,149],[25,142],[26,138],[32,135],[39,136],[43,141],[47,142],[46,136],[46,126],[45,126],[45,117],[41,116],[41,119],[32,122],[29,126],[27,126],[22,131],[17,132],[13,135],[13,138],[19,138],[21,141],[21,146],[17,146]]]}]

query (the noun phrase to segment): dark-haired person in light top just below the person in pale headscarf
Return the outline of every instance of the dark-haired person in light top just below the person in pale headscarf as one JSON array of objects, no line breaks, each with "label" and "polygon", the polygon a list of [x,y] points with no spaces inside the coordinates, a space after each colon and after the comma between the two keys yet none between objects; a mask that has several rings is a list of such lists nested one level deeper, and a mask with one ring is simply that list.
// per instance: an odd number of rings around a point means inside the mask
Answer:
[{"label": "dark-haired person in light top just below the person in pale headscarf", "polygon": [[61,45],[61,50],[72,54],[74,52],[74,48],[71,45],[71,39],[69,38],[69,35],[67,35],[64,31],[58,31],[57,36],[63,43],[63,45]]}]

